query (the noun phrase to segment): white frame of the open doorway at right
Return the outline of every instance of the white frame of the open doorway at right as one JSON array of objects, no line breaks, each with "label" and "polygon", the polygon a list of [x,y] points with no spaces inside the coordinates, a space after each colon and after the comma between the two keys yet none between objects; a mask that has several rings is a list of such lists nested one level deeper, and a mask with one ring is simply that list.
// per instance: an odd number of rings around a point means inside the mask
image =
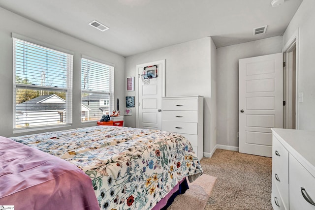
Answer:
[{"label": "white frame of the open doorway at right", "polygon": [[[300,44],[299,44],[299,28],[297,28],[297,30],[293,33],[293,35],[290,37],[290,39],[286,42],[286,44],[284,45],[282,52],[284,53],[284,58],[285,58],[285,62],[288,62],[289,59],[289,52],[292,51],[292,49],[295,46],[295,129],[299,129],[299,98],[300,98],[300,93],[299,93],[299,58],[300,58],[300,54],[299,54],[299,49],[300,49]],[[289,98],[289,91],[288,90],[288,84],[289,84],[289,77],[288,77],[288,65],[286,65],[285,67],[285,75],[286,77],[284,78],[284,82],[285,82],[285,101],[287,101],[287,98]],[[303,96],[301,96],[303,97]],[[289,116],[289,109],[285,108],[285,112],[284,112],[284,125],[287,124],[288,119],[287,116]]]}]

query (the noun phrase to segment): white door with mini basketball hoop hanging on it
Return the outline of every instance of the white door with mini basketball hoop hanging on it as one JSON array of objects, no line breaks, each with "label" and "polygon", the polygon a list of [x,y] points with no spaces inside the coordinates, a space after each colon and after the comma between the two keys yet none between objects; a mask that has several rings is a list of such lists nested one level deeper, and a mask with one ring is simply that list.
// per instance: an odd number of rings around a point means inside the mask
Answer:
[{"label": "white door with mini basketball hoop hanging on it", "polygon": [[[157,66],[157,67],[155,67]],[[155,70],[157,69],[157,70]],[[154,72],[154,73],[153,73]],[[157,74],[144,85],[141,75]],[[138,128],[162,129],[162,97],[165,96],[165,60],[137,65],[138,77]],[[155,76],[155,75],[154,75]]]}]

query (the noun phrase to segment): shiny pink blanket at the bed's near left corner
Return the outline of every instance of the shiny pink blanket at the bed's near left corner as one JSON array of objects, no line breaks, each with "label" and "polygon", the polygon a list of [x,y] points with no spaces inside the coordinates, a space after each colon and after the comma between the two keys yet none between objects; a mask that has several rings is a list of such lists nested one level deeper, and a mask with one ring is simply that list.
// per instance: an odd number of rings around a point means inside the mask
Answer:
[{"label": "shiny pink blanket at the bed's near left corner", "polygon": [[76,166],[0,137],[0,205],[16,210],[99,210],[91,179]]}]

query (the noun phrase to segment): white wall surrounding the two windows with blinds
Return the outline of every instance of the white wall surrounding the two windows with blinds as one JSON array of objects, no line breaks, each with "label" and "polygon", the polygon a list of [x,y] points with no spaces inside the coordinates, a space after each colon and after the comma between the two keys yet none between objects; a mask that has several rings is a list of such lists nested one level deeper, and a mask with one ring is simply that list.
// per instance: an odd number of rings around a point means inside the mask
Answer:
[{"label": "white wall surrounding the two windows with blinds", "polygon": [[[81,123],[81,56],[89,56],[115,65],[115,104],[117,98],[124,99],[125,58],[102,48],[88,44],[56,30],[49,29],[0,7],[0,135],[13,134],[13,42],[11,33],[15,32],[48,45],[72,51],[73,56],[73,125],[63,129],[96,125]],[[96,31],[97,32],[97,31]],[[38,131],[38,132],[43,132]],[[38,133],[37,132],[37,133]],[[32,132],[35,133],[35,132]]]}]

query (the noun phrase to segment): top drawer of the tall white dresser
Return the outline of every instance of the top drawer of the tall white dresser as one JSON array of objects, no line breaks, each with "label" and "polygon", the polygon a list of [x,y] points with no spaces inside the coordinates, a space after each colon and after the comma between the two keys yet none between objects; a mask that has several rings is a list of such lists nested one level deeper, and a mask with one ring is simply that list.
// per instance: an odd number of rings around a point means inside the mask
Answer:
[{"label": "top drawer of the tall white dresser", "polygon": [[197,99],[164,99],[162,100],[164,110],[198,111]]}]

